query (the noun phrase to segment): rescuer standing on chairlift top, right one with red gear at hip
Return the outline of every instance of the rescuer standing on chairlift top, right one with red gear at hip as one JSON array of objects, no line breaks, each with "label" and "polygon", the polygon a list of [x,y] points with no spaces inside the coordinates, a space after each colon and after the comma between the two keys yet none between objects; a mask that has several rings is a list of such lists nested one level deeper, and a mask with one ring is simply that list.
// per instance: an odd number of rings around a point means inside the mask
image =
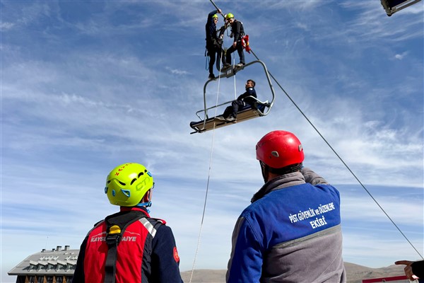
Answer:
[{"label": "rescuer standing on chairlift top, right one with red gear at hip", "polygon": [[245,65],[245,53],[243,52],[243,45],[242,45],[242,37],[245,36],[245,30],[243,28],[243,23],[240,21],[237,21],[234,18],[234,15],[232,13],[228,13],[225,16],[225,20],[227,21],[228,25],[231,25],[231,35],[234,40],[232,42],[232,45],[230,48],[228,48],[226,52],[226,58],[225,58],[225,64],[224,68],[228,68],[231,66],[231,54],[232,52],[235,52],[237,50],[237,53],[240,57],[240,62],[236,64],[236,67],[242,67]]}]

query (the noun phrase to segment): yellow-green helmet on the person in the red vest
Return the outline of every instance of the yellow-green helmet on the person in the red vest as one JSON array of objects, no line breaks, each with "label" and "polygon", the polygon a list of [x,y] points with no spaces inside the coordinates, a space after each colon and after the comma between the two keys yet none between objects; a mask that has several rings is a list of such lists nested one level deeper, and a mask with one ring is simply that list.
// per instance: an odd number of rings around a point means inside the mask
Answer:
[{"label": "yellow-green helmet on the person in the red vest", "polygon": [[134,207],[152,187],[153,177],[146,167],[139,163],[124,163],[107,175],[105,194],[111,204]]}]

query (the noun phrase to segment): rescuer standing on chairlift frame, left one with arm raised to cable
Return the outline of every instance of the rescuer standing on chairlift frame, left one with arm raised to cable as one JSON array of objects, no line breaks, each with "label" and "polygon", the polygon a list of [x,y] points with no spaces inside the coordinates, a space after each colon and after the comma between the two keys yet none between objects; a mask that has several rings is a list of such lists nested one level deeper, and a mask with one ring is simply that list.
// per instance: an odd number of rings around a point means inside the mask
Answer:
[{"label": "rescuer standing on chairlift frame, left one with arm raised to cable", "polygon": [[222,42],[218,38],[216,31],[216,23],[218,23],[218,13],[222,13],[220,9],[213,10],[208,14],[208,21],[206,22],[206,51],[209,56],[209,79],[214,79],[213,64],[215,64],[216,57],[220,58],[223,52]]}]

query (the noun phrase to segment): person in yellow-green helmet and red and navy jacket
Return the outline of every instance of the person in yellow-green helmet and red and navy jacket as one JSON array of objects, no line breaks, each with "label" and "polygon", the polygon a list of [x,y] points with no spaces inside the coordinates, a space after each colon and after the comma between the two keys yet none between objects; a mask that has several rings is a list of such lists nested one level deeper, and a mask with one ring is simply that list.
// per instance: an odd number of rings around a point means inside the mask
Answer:
[{"label": "person in yellow-green helmet and red and navy jacket", "polygon": [[105,194],[120,211],[95,224],[81,244],[73,282],[182,282],[170,227],[148,214],[154,187],[141,164],[107,175]]}]

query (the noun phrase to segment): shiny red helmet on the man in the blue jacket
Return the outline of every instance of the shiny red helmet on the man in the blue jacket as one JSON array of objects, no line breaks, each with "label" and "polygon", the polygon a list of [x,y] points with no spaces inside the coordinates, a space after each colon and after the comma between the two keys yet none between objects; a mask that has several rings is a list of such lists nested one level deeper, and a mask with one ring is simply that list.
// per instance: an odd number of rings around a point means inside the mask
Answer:
[{"label": "shiny red helmet on the man in the blue jacket", "polygon": [[302,163],[305,156],[298,137],[290,132],[273,131],[257,143],[257,159],[271,168]]}]

